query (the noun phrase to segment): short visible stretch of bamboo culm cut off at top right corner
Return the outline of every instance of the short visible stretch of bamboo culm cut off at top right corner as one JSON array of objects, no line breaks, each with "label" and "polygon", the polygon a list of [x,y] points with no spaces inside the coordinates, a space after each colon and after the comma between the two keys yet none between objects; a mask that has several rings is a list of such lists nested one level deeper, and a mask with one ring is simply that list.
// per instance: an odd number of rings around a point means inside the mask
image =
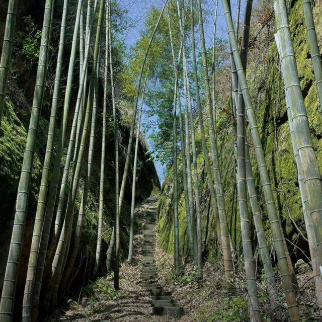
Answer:
[{"label": "short visible stretch of bamboo culm cut off at top right corner", "polygon": [[312,1],[302,0],[304,18],[306,22],[307,38],[310,45],[311,59],[313,63],[314,77],[317,89],[317,95],[322,106],[322,62],[317,44],[317,37],[312,13]]}]

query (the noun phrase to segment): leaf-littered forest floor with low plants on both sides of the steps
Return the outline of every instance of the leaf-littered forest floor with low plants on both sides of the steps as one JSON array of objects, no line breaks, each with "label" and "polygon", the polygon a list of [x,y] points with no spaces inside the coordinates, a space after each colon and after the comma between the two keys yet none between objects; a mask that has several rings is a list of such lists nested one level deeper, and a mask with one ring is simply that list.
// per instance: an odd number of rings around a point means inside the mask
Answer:
[{"label": "leaf-littered forest floor with low plants on both sides of the steps", "polygon": [[[142,221],[143,225],[144,221]],[[156,246],[155,260],[158,283],[166,290],[173,291],[178,305],[184,308],[180,318],[152,315],[149,293],[140,285],[143,269],[141,254],[143,235],[134,236],[133,261],[126,261],[120,268],[120,290],[113,288],[113,276],[98,278],[74,295],[64,307],[57,309],[46,322],[94,322],[94,321],[180,321],[180,322],[249,322],[247,289],[243,271],[235,271],[236,290],[229,296],[225,287],[222,265],[205,263],[203,280],[199,281],[193,265],[182,262],[180,276],[173,271],[173,256]],[[240,265],[241,266],[241,265]],[[321,321],[314,302],[314,283],[310,270],[297,274],[301,294],[298,298],[303,314],[302,321]],[[280,285],[280,281],[277,283]],[[281,294],[281,305],[273,312],[269,305],[264,281],[260,281],[259,295],[262,308],[262,321],[288,321],[286,307]]]}]

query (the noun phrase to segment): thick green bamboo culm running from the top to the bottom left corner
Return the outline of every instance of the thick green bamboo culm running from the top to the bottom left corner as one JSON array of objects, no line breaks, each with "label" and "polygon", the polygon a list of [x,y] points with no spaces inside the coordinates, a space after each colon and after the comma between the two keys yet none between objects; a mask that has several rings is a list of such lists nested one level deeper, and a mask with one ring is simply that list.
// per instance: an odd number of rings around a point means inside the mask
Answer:
[{"label": "thick green bamboo culm running from the top to the bottom left corner", "polygon": [[46,0],[34,100],[32,104],[20,182],[18,186],[15,222],[12,231],[11,244],[0,303],[0,320],[4,322],[11,321],[14,312],[14,297],[18,277],[22,241],[24,236],[24,228],[26,224],[29,187],[33,169],[39,118],[43,102],[44,86],[46,82],[53,9],[54,0]]}]

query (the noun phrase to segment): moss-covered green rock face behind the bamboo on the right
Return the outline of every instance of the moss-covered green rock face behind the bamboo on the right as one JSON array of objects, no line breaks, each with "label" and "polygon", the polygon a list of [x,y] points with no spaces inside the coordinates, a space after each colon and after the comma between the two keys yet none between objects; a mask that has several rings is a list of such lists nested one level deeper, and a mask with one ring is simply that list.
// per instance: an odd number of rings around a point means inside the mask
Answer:
[{"label": "moss-covered green rock face behind the bamboo on the right", "polygon": [[[313,146],[315,148],[320,173],[322,173],[322,109],[318,102],[316,92],[313,67],[303,17],[302,2],[296,0],[289,2],[289,5],[289,24],[292,32],[300,84],[307,109]],[[301,252],[298,252],[296,247],[304,251],[306,255],[309,255],[309,251],[305,239],[302,238],[301,234],[299,234],[297,230],[297,228],[299,228],[301,232],[306,235],[304,221],[302,220],[303,212],[298,189],[297,171],[293,158],[289,125],[287,122],[283,81],[280,73],[279,61],[276,59],[277,49],[274,41],[274,13],[272,8],[269,8],[268,6],[267,2],[259,1],[258,5],[255,6],[253,10],[250,37],[251,49],[249,52],[247,76],[263,148],[266,154],[267,166],[277,210],[281,216],[282,227],[286,238],[296,245],[288,245],[292,261],[295,263],[299,258],[303,258],[305,260],[305,256],[303,256]],[[262,9],[263,7],[265,7],[265,10]],[[321,2],[314,2],[313,14],[319,48],[322,48],[321,11]],[[259,34],[255,37],[257,33]],[[226,70],[225,73],[228,75],[229,70]],[[227,84],[227,86],[228,85],[229,84]],[[217,86],[220,88],[223,85],[220,83]],[[229,91],[228,88],[227,91]],[[218,113],[216,129],[218,134],[218,149],[220,152],[221,174],[228,224],[232,243],[235,245],[235,248],[238,249],[241,247],[241,238],[238,203],[236,199],[237,194],[235,190],[235,164],[233,160],[232,141],[233,132],[229,107],[230,98],[225,98],[223,96],[223,92],[224,91],[217,93],[219,103],[217,104]],[[221,102],[225,103],[222,104]],[[264,205],[264,198],[262,197],[261,182],[249,130],[247,131],[247,135],[249,137],[249,146],[252,151],[251,158],[255,183],[257,185],[259,201],[262,208],[264,229],[267,231],[269,241],[271,241],[271,234],[269,233],[270,225],[266,207]],[[203,252],[204,256],[211,260],[216,257],[216,240],[214,234],[215,225],[210,210],[209,192],[207,189],[199,132],[197,132],[196,139],[199,153],[198,171],[202,202]],[[178,165],[178,178],[182,180],[180,159],[178,161]],[[170,170],[169,176],[164,182],[160,202],[158,204],[159,222],[157,226],[157,229],[160,232],[160,245],[165,251],[170,253],[173,252],[172,176],[173,173],[172,170]],[[188,235],[185,233],[187,227],[184,208],[183,182],[179,183],[179,189],[181,189],[181,194],[179,195],[179,234],[181,245],[184,243],[183,255],[188,255]],[[171,233],[169,233],[169,231]],[[253,233],[252,238],[256,241],[255,233]]]}]

